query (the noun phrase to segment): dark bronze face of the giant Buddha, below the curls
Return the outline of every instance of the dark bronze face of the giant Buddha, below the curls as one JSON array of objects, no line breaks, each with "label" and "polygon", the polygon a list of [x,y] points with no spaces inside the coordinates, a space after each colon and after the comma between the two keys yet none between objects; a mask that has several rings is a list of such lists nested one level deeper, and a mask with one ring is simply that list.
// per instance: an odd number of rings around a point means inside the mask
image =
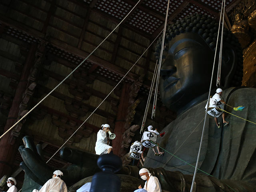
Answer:
[{"label": "dark bronze face of the giant Buddha, below the curls", "polygon": [[178,111],[210,87],[214,52],[195,33],[172,38],[160,72],[162,102]]}]

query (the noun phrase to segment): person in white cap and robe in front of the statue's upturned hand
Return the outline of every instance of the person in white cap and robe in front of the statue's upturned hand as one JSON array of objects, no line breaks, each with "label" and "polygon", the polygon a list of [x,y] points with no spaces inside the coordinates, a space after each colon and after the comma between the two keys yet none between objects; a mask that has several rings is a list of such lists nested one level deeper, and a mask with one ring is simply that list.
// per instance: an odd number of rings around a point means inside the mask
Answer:
[{"label": "person in white cap and robe in front of the statue's upturned hand", "polygon": [[[60,170],[53,172],[52,179],[49,179],[39,192],[68,192],[66,183],[60,178],[63,173]],[[38,192],[34,189],[33,192]]]}]

